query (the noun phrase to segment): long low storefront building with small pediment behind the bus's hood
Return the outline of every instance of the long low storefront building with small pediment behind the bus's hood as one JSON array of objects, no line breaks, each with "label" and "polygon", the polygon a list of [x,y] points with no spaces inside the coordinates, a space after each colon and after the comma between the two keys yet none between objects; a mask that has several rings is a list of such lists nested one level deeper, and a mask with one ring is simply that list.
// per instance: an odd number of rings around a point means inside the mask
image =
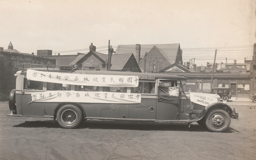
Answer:
[{"label": "long low storefront building with small pediment behind the bus's hood", "polygon": [[[175,70],[172,68],[175,68]],[[186,91],[190,88],[192,92],[210,93],[212,73],[197,72],[195,71],[196,67],[194,71],[189,70],[188,67],[186,68],[184,69],[184,65],[173,64],[164,68],[159,73],[187,77]],[[212,83],[213,87],[230,87],[232,97],[249,97],[250,79],[250,73],[246,72],[216,72],[214,73]]]}]

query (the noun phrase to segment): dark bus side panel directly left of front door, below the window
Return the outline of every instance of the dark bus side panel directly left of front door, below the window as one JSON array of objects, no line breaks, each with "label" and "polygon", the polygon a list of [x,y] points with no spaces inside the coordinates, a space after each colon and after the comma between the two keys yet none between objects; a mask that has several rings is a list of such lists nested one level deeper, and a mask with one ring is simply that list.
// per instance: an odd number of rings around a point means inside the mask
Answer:
[{"label": "dark bus side panel directly left of front door, below the window", "polygon": [[[143,96],[142,96],[143,97]],[[151,96],[154,97],[154,96]],[[156,96],[155,96],[156,97]],[[156,119],[156,98],[142,98],[141,104],[129,104],[129,119]],[[154,111],[151,112],[150,108],[153,107]]]}]

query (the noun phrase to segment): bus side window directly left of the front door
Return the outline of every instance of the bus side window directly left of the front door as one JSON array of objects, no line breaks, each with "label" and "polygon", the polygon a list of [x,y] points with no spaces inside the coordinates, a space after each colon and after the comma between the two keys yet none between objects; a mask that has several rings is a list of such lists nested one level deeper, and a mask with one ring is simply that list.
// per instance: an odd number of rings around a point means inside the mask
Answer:
[{"label": "bus side window directly left of the front door", "polygon": [[134,90],[134,93],[140,94],[155,94],[155,81],[140,81],[137,87],[132,87],[131,93]]}]

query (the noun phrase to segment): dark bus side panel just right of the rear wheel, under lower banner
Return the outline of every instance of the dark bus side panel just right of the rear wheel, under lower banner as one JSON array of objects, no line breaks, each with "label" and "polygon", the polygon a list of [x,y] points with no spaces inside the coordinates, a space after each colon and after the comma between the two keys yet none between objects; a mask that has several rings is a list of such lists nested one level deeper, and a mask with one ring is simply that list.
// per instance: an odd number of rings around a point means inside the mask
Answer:
[{"label": "dark bus side panel just right of the rear wheel, under lower banner", "polygon": [[80,103],[86,112],[86,117],[100,118],[100,103]]}]

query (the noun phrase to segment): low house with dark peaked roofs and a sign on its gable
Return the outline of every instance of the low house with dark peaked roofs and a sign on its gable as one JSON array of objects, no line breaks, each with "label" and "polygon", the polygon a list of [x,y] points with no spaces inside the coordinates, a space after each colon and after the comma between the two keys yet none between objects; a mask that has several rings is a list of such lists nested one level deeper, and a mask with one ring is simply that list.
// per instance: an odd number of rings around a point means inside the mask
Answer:
[{"label": "low house with dark peaked roofs and a sign on its gable", "polygon": [[[80,64],[82,70],[106,71],[108,55],[96,52],[96,47],[91,44],[90,52],[78,55],[70,65]],[[111,58],[111,71],[141,72],[133,53],[122,55],[113,54]]]}]

